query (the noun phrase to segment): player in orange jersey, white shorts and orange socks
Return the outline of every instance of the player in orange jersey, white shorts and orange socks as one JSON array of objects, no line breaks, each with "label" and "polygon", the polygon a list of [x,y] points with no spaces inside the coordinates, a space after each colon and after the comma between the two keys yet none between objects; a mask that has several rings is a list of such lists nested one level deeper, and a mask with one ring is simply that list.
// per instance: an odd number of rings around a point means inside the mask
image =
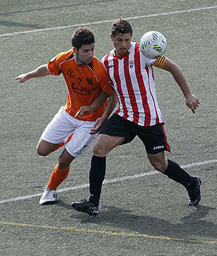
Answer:
[{"label": "player in orange jersey, white shorts and orange socks", "polygon": [[[93,56],[95,37],[87,27],[79,28],[71,38],[73,49],[59,53],[49,63],[19,75],[24,83],[33,77],[63,73],[68,100],[53,117],[37,145],[39,155],[49,155],[68,139],[39,201],[41,205],[57,201],[57,187],[67,178],[70,164],[93,142],[116,106],[116,95],[101,61]],[[107,98],[108,102],[107,102]],[[87,107],[83,106],[89,106]]]}]

